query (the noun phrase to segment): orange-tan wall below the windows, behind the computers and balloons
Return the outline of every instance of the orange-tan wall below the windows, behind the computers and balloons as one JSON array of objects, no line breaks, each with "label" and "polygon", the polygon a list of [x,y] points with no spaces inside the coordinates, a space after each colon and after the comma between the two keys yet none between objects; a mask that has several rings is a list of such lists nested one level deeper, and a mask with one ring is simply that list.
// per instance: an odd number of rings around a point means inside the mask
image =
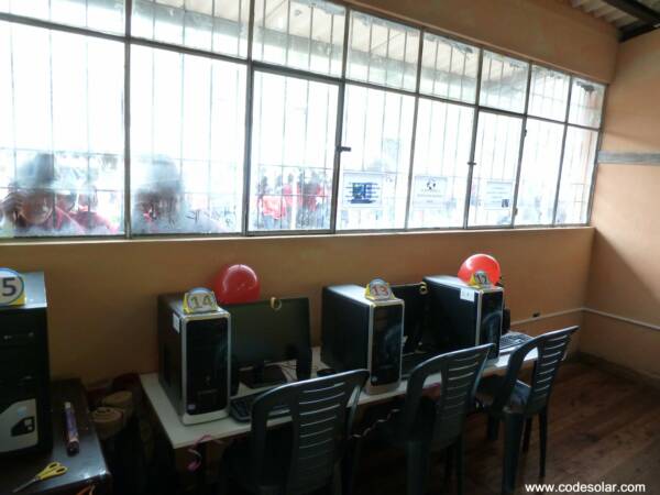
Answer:
[{"label": "orange-tan wall below the windows, behind the computers and balloons", "polygon": [[[0,246],[0,265],[46,272],[53,374],[90,382],[153,371],[157,294],[204,285],[226,263],[253,266],[266,297],[310,297],[318,340],[323,285],[451,274],[474,252],[499,260],[515,320],[581,307],[592,238],[593,229],[579,228],[12,244]],[[559,328],[565,318],[559,320],[535,322],[535,332]]]}]

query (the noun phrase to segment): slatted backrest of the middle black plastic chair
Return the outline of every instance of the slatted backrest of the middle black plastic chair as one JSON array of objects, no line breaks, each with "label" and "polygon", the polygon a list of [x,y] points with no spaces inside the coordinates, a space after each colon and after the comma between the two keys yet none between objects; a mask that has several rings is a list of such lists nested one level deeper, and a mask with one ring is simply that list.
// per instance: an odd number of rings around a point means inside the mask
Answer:
[{"label": "slatted backrest of the middle black plastic chair", "polygon": [[450,444],[463,432],[465,416],[474,403],[474,394],[493,344],[440,354],[417,365],[410,373],[402,417],[402,432],[408,436],[417,419],[424,385],[429,375],[440,374],[435,397],[432,440],[440,447]]}]

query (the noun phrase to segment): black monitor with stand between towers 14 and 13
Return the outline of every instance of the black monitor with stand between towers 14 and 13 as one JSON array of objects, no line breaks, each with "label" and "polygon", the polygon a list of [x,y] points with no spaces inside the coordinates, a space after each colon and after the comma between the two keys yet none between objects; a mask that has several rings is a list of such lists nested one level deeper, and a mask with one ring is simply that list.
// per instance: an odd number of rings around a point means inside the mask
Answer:
[{"label": "black monitor with stand between towers 14 and 13", "polygon": [[286,382],[277,365],[296,360],[298,380],[311,373],[309,299],[307,297],[260,300],[222,306],[231,315],[233,369],[251,388]]}]

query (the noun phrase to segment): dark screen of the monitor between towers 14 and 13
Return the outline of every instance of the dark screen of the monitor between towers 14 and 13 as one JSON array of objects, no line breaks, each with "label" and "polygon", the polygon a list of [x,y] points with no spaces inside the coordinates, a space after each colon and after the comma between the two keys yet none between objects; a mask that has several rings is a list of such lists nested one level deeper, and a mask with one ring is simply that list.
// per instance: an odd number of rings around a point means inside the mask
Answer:
[{"label": "dark screen of the monitor between towers 14 and 13", "polygon": [[240,366],[295,360],[310,352],[309,299],[279,302],[278,309],[270,300],[222,306],[231,315],[231,352]]}]

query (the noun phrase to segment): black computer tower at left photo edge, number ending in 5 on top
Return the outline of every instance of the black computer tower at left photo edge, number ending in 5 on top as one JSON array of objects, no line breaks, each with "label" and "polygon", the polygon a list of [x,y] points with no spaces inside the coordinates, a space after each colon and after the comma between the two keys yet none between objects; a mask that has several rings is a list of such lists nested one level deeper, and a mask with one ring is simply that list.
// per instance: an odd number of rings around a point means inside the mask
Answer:
[{"label": "black computer tower at left photo edge, number ending in 5 on top", "polygon": [[53,448],[44,274],[22,274],[23,306],[0,307],[0,457]]}]

